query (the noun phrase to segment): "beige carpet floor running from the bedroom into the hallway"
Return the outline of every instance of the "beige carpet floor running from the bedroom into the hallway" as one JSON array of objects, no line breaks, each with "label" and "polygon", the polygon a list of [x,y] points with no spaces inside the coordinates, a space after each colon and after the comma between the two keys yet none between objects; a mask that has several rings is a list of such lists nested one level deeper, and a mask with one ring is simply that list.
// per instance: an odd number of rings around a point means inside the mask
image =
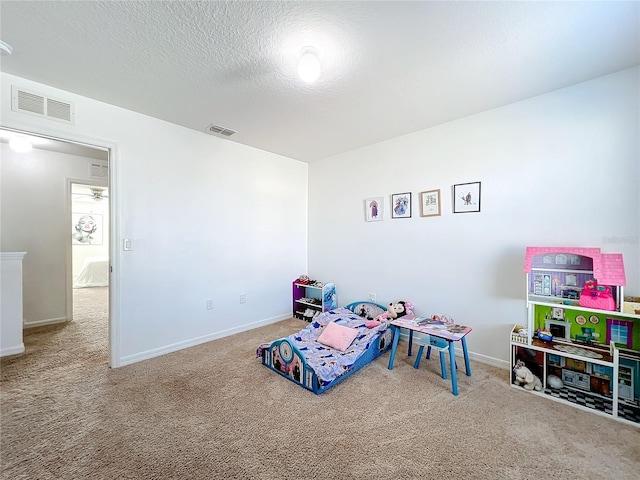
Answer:
[{"label": "beige carpet floor running from the bedroom into the hallway", "polygon": [[415,370],[404,354],[314,395],[255,358],[300,320],[109,369],[106,290],[76,291],[73,322],[2,359],[2,478],[640,478],[639,428],[476,362],[458,397],[437,356]]}]

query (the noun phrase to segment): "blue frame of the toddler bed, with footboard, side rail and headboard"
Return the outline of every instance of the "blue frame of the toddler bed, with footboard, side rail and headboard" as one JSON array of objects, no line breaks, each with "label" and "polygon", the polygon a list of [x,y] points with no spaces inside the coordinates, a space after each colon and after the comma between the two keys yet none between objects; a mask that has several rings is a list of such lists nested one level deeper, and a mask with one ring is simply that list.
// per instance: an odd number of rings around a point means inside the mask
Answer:
[{"label": "blue frame of the toddler bed, with footboard, side rail and headboard", "polygon": [[[361,314],[366,311],[366,318],[371,319],[387,311],[386,307],[383,305],[369,301],[353,302],[345,308],[359,316],[363,316]],[[316,372],[314,372],[313,368],[307,364],[304,354],[286,337],[271,342],[268,347],[262,350],[262,364],[293,383],[296,383],[307,390],[311,390],[315,394],[320,394],[340,383],[345,378],[354,374],[362,367],[368,365],[370,362],[390,350],[393,342],[387,338],[389,335],[386,334],[386,332],[391,332],[391,330],[387,329],[383,334],[379,335],[374,342],[373,348],[369,348],[363,352],[353,365],[351,365],[349,370],[346,370],[342,375],[325,385],[320,384]],[[283,346],[282,344],[285,345]],[[289,361],[285,361],[281,353],[274,355],[274,352],[282,351],[287,351],[287,353],[289,351],[291,352],[291,355],[284,355],[284,357],[289,358]],[[297,368],[294,371],[291,371],[288,367],[292,363],[295,365],[296,360],[297,365],[301,365],[302,368]]]}]

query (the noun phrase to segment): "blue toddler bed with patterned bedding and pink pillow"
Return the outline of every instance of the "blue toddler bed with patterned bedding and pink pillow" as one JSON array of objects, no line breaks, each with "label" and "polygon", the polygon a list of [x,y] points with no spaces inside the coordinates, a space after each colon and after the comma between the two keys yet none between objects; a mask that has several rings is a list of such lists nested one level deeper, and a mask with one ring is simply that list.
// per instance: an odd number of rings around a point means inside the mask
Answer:
[{"label": "blue toddler bed with patterned bedding and pink pillow", "polygon": [[[384,312],[385,307],[368,301],[323,312],[299,332],[260,345],[257,356],[264,366],[320,394],[391,348],[393,332],[386,322],[365,326]],[[337,344],[331,335],[335,330]]]}]

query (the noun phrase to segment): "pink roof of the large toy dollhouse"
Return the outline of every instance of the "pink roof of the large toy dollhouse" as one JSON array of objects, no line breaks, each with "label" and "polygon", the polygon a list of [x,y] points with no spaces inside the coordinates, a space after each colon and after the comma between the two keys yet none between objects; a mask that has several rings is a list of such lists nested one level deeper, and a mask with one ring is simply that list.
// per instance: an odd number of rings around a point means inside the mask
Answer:
[{"label": "pink roof of the large toy dollhouse", "polygon": [[626,285],[624,262],[621,253],[602,253],[599,248],[591,247],[527,247],[524,259],[524,271],[531,272],[534,256],[569,253],[593,259],[593,276],[602,285]]}]

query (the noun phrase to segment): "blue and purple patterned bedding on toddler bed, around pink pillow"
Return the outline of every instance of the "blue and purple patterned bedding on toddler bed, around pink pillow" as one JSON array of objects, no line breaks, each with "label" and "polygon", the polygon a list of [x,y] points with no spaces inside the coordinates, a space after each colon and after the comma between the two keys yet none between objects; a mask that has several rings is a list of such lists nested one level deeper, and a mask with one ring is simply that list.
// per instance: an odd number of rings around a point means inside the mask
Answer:
[{"label": "blue and purple patterned bedding on toddler bed, around pink pillow", "polygon": [[[375,328],[367,328],[366,320],[351,310],[336,308],[321,313],[306,328],[287,338],[305,356],[307,365],[316,372],[321,384],[327,384],[349,371],[356,360],[369,348],[378,345],[381,335],[388,337],[386,342],[391,344],[393,335],[386,323]],[[345,352],[327,347],[317,341],[324,327],[330,322],[359,330],[358,336]]]}]

